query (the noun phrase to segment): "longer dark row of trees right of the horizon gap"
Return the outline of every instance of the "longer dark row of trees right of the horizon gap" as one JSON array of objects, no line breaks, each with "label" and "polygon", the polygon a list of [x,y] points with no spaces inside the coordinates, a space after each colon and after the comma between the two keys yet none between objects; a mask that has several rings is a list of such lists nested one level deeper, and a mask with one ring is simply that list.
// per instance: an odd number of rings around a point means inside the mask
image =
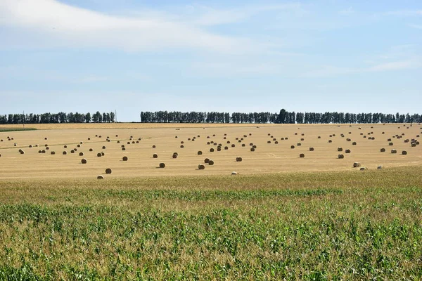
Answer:
[{"label": "longer dark row of trees right of the horizon gap", "polygon": [[343,112],[141,112],[143,123],[274,123],[274,124],[352,124],[352,123],[412,123],[422,122],[422,115],[399,113],[343,113]]}]

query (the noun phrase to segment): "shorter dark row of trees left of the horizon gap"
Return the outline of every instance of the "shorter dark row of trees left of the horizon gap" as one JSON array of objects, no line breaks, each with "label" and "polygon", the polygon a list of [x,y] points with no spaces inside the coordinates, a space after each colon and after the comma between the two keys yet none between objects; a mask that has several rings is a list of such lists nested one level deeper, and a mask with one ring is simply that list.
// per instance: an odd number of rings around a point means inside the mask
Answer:
[{"label": "shorter dark row of trees left of the horizon gap", "polygon": [[0,115],[0,124],[49,124],[49,123],[102,123],[115,122],[114,112],[96,113],[58,112],[37,114]]}]

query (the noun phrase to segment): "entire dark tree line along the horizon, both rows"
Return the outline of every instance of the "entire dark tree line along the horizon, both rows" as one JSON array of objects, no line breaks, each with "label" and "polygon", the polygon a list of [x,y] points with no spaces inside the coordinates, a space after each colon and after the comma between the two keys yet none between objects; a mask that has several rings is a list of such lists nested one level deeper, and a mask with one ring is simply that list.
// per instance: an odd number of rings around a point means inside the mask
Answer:
[{"label": "entire dark tree line along the horizon, both rows", "polygon": [[[343,113],[343,112],[141,112],[142,123],[255,123],[255,124],[353,124],[353,123],[413,123],[422,122],[422,115],[407,113]],[[0,115],[0,124],[49,124],[49,123],[110,123],[115,122],[114,112],[58,112],[42,114]]]}]

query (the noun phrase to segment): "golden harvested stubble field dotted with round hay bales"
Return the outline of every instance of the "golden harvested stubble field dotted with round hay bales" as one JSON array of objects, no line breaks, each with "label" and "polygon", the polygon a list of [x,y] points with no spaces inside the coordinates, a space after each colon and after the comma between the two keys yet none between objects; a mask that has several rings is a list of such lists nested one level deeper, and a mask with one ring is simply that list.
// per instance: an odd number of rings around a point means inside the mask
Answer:
[{"label": "golden harvested stubble field dotted with round hay bales", "polygon": [[422,164],[419,124],[96,125],[0,132],[0,178],[96,178],[106,169],[113,171],[110,178],[347,171],[357,170],[355,162],[367,169]]}]

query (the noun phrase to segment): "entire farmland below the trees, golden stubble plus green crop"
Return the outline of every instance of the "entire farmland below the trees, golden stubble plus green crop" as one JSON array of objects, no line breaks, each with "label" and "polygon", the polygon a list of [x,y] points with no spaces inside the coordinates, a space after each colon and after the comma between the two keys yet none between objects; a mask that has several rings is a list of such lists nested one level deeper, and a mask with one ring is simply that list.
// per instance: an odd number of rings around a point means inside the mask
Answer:
[{"label": "entire farmland below the trees, golden stubble plus green crop", "polygon": [[419,124],[106,125],[0,133],[0,280],[422,280]]}]

